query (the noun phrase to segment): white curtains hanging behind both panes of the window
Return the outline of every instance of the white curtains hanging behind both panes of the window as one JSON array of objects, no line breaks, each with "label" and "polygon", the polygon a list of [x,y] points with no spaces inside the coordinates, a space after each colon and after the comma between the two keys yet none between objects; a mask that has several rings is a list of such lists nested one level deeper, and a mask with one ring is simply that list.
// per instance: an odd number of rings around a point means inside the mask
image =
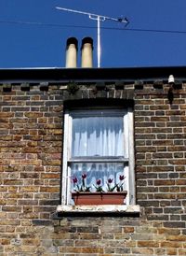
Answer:
[{"label": "white curtains hanging behind both panes of the window", "polygon": [[[72,159],[112,159],[124,157],[124,119],[120,117],[81,117],[73,118]],[[73,178],[81,181],[86,174],[86,185],[94,185],[101,180],[102,188],[106,191],[108,178],[113,184],[119,182],[119,176],[124,175],[123,163],[75,163],[72,164]],[[112,184],[112,185],[113,185]],[[74,189],[74,188],[73,188]]]}]

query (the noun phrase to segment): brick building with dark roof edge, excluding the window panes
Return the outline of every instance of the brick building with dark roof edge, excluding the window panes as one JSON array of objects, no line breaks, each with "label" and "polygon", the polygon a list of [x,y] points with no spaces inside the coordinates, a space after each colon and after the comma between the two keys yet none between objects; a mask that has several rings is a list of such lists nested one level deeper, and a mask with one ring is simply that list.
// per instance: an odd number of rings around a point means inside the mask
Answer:
[{"label": "brick building with dark roof edge, excluding the window panes", "polygon": [[[186,255],[185,95],[185,67],[0,70],[0,255]],[[68,202],[65,115],[90,106],[130,107],[124,206]]]}]

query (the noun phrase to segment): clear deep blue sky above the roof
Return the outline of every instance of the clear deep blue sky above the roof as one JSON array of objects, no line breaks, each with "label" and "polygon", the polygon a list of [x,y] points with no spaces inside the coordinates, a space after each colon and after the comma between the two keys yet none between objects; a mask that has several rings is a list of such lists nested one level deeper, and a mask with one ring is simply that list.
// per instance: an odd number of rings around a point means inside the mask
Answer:
[{"label": "clear deep blue sky above the roof", "polygon": [[78,66],[82,38],[93,37],[97,67],[97,21],[55,7],[127,17],[126,28],[101,22],[101,67],[186,66],[186,33],[135,31],[186,32],[185,0],[0,0],[0,68],[64,67],[70,36],[79,41]]}]

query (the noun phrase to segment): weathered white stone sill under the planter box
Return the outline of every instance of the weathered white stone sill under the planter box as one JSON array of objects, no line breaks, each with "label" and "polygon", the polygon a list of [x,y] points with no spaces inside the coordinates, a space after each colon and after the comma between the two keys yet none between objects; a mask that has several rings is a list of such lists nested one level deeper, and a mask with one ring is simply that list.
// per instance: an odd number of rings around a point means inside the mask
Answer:
[{"label": "weathered white stone sill under the planter box", "polygon": [[140,215],[140,206],[113,206],[113,205],[100,205],[100,206],[57,206],[57,214],[67,215],[67,214],[112,214],[112,215]]}]

